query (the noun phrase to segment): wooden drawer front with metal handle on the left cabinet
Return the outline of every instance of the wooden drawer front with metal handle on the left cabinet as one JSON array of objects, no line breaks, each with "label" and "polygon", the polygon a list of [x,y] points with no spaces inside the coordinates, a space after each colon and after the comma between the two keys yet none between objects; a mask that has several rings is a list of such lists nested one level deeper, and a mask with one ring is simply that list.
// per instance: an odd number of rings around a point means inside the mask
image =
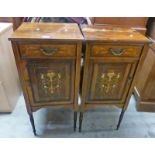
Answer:
[{"label": "wooden drawer front with metal handle on the left cabinet", "polygon": [[76,44],[19,44],[22,58],[75,57]]}]

